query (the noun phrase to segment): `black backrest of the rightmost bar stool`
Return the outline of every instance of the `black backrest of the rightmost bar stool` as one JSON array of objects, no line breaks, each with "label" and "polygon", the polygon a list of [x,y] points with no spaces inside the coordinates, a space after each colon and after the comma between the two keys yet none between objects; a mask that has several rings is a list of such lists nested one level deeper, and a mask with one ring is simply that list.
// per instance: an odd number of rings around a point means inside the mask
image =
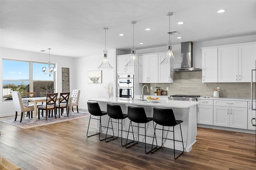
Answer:
[{"label": "black backrest of the rightmost bar stool", "polygon": [[172,109],[153,108],[153,121],[163,126],[175,126],[176,122]]}]

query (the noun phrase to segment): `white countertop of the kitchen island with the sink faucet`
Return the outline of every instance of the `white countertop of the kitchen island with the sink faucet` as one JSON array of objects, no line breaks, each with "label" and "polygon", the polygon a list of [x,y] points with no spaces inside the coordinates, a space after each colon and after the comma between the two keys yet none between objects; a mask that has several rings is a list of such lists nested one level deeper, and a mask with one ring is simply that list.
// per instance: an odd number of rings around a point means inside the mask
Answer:
[{"label": "white countertop of the kitchen island with the sink faucet", "polygon": [[187,109],[189,107],[195,106],[200,102],[190,102],[190,101],[178,101],[178,100],[160,100],[157,103],[151,103],[148,101],[141,101],[139,99],[131,100],[129,98],[101,98],[88,100],[89,102],[106,102],[114,104],[133,104],[138,106],[160,106],[160,107],[172,107],[172,108],[182,108]]}]

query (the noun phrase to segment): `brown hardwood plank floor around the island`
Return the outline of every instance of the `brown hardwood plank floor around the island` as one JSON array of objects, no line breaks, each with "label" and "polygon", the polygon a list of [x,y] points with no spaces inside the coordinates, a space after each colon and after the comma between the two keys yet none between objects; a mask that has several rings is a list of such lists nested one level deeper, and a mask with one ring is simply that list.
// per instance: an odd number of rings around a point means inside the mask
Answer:
[{"label": "brown hardwood plank floor around the island", "polygon": [[[173,150],[144,153],[86,137],[89,117],[30,129],[0,122],[2,156],[22,170],[256,170],[255,135],[198,128],[197,142],[177,160]],[[95,124],[94,124],[95,126]]]}]

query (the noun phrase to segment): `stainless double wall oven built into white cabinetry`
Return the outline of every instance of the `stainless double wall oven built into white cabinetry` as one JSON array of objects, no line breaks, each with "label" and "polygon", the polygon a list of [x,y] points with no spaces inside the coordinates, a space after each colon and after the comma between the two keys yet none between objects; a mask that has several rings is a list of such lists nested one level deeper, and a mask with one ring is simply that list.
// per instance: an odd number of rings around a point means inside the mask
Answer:
[{"label": "stainless double wall oven built into white cabinetry", "polygon": [[119,98],[134,98],[134,75],[118,75],[117,88]]}]

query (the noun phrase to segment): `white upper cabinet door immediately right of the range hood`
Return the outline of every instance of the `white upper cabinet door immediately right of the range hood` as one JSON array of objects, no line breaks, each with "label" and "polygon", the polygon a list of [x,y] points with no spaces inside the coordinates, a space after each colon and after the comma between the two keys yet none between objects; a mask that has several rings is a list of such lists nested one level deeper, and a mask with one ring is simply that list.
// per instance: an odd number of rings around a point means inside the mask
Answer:
[{"label": "white upper cabinet door immediately right of the range hood", "polygon": [[218,82],[218,48],[202,50],[202,82]]}]

